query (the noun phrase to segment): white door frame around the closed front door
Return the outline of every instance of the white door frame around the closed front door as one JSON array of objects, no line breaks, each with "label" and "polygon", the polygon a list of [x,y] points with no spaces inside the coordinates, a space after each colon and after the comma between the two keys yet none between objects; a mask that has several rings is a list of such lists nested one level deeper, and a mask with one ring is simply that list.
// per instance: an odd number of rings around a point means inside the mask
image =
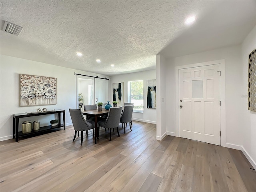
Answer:
[{"label": "white door frame around the closed front door", "polygon": [[220,146],[226,146],[226,60],[216,60],[196,64],[176,66],[175,68],[175,136],[179,137],[179,70],[200,66],[220,64]]}]

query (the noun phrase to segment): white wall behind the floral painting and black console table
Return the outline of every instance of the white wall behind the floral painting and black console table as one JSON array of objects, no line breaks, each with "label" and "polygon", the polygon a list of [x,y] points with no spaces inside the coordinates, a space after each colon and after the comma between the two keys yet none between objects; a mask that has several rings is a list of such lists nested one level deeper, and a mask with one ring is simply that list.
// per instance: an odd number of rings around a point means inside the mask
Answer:
[{"label": "white wall behind the floral painting and black console table", "polygon": [[[0,55],[0,140],[12,138],[12,114],[23,112],[34,112],[37,108],[64,109],[66,110],[66,125],[71,125],[71,118],[68,112],[69,108],[77,108],[76,101],[76,76],[87,74],[90,76],[99,76],[109,78],[99,74],[92,74],[84,71],[78,71],[70,68],[54,66],[41,62],[25,60],[5,55]],[[46,106],[19,106],[19,74],[32,74],[38,76],[48,76],[57,78],[57,104]],[[40,126],[50,125],[50,120],[54,115],[36,116],[27,118],[28,120],[39,120]],[[20,120],[21,122],[24,119]]]}]

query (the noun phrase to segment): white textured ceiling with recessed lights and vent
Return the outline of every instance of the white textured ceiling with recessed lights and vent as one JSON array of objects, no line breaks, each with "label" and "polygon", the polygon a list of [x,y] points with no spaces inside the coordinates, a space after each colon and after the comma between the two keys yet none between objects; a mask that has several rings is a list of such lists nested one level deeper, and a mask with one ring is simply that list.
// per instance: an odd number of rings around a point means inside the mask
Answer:
[{"label": "white textured ceiling with recessed lights and vent", "polygon": [[[0,6],[1,29],[4,20],[24,28],[19,36],[1,30],[1,54],[105,75],[154,69],[159,52],[168,58],[240,44],[256,24],[256,1],[1,0]],[[190,15],[197,21],[186,26]]]}]

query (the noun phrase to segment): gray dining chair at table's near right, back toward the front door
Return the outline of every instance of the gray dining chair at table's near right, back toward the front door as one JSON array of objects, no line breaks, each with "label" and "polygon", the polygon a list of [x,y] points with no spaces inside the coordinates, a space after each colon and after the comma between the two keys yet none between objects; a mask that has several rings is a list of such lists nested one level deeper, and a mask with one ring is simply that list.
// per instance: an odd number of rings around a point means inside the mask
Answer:
[{"label": "gray dining chair at table's near right, back toward the front door", "polygon": [[99,126],[104,127],[105,129],[108,128],[110,132],[110,138],[111,141],[111,129],[117,128],[118,136],[120,137],[118,126],[121,118],[122,113],[122,107],[110,107],[108,112],[108,117],[106,120],[98,121]]}]

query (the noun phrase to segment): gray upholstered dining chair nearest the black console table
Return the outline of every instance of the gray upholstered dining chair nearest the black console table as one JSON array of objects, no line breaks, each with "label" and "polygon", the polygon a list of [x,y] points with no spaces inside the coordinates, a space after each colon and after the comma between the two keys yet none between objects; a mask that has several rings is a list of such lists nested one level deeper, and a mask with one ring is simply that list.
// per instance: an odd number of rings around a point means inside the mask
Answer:
[{"label": "gray upholstered dining chair nearest the black console table", "polygon": [[[82,145],[83,144],[83,131],[86,131],[86,134],[88,135],[88,130],[92,129],[93,135],[94,135],[95,123],[94,123],[94,121],[85,120],[81,109],[69,108],[69,113],[70,113],[72,124],[73,124],[74,130],[75,130],[75,135],[74,135],[73,141],[76,138],[76,132],[78,132],[78,136],[79,136],[79,131],[81,131],[81,145]],[[98,124],[97,124],[97,127],[98,127]]]}]

